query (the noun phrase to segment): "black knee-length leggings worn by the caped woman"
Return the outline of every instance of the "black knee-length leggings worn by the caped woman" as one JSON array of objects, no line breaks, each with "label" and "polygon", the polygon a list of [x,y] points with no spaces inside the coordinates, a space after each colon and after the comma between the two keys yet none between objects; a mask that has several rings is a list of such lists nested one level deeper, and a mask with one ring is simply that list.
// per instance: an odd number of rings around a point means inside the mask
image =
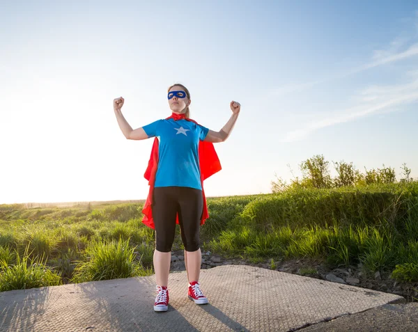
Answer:
[{"label": "black knee-length leggings worn by the caped woman", "polygon": [[157,251],[168,253],[176,235],[176,215],[186,251],[199,249],[203,196],[199,189],[189,187],[155,187],[153,219]]}]

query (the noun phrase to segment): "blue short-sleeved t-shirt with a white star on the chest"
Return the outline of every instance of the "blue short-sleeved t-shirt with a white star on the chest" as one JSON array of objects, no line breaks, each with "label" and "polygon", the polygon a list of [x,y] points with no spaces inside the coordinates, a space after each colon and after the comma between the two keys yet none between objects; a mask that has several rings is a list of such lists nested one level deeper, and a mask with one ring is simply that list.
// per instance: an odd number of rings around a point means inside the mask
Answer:
[{"label": "blue short-sleeved t-shirt with a white star on the chest", "polygon": [[158,168],[154,187],[202,189],[199,140],[209,129],[187,120],[157,120],[143,127],[148,137],[159,139]]}]

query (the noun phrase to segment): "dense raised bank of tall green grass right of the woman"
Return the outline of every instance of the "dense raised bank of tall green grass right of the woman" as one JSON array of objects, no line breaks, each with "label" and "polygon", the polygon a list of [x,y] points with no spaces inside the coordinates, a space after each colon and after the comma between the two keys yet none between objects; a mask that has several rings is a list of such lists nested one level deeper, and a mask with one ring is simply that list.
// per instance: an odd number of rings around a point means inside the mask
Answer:
[{"label": "dense raised bank of tall green grass right of the woman", "polygon": [[[249,201],[209,242],[243,258],[314,258],[364,272],[418,263],[418,185],[301,189]],[[332,226],[329,226],[332,225]]]}]

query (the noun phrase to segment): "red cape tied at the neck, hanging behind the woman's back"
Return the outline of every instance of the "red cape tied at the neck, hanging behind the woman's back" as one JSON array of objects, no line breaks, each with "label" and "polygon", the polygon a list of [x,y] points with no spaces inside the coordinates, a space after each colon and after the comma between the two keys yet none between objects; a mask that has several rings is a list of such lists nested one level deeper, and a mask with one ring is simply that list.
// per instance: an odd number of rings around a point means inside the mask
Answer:
[{"label": "red cape tied at the neck, hanging behind the woman's back", "polygon": [[[183,117],[176,116],[173,114],[169,118],[174,118],[178,120]],[[167,119],[169,119],[167,118]],[[192,121],[198,125],[198,123],[192,119],[184,118],[185,120]],[[157,166],[158,166],[158,139],[155,137],[153,148],[151,150],[150,160],[148,161],[148,167],[146,168],[144,177],[148,180],[148,184],[150,186],[150,190],[148,192],[148,197],[146,198],[144,208],[142,209],[142,213],[144,217],[142,218],[142,222],[150,227],[155,229],[154,220],[153,220],[153,191],[154,191],[154,183],[155,183],[155,174],[157,173]],[[217,157],[217,153],[213,146],[213,143],[199,141],[199,168],[201,173],[201,186],[202,186],[202,194],[203,194],[203,214],[201,217],[201,225],[203,225],[206,219],[209,218],[208,213],[208,206],[206,205],[206,196],[205,191],[203,190],[203,180],[206,180],[210,175],[213,175],[219,172],[222,167]],[[178,215],[176,217],[176,223],[178,223]]]}]

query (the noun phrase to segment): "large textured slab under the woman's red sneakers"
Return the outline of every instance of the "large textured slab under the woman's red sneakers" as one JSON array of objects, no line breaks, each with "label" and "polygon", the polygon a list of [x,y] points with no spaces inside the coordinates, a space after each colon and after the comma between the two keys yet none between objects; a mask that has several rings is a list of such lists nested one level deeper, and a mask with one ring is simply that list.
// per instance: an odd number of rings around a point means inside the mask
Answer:
[{"label": "large textured slab under the woman's red sneakers", "polygon": [[210,304],[169,276],[170,306],[155,313],[155,276],[0,292],[0,331],[294,331],[403,297],[245,265],[201,270]]}]

